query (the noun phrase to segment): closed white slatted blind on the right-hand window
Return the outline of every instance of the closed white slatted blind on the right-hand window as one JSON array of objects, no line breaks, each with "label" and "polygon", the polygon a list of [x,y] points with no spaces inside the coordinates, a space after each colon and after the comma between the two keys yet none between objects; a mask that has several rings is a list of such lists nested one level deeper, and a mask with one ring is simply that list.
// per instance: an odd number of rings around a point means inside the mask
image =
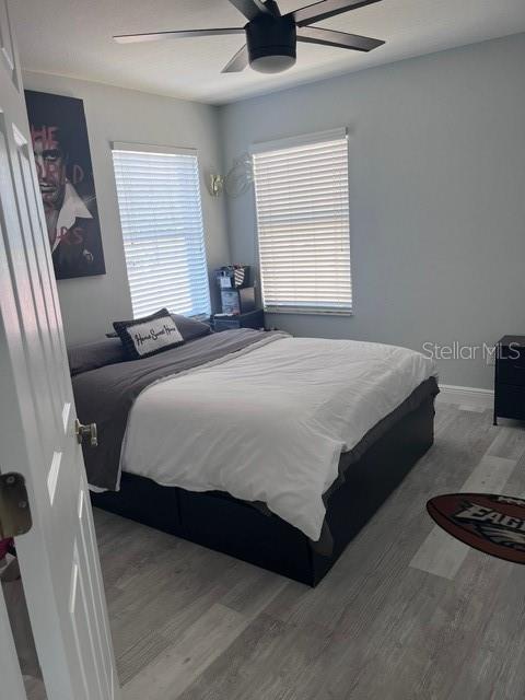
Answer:
[{"label": "closed white slatted blind on the right-hand window", "polygon": [[265,310],[351,313],[346,130],[259,144],[253,156]]}]

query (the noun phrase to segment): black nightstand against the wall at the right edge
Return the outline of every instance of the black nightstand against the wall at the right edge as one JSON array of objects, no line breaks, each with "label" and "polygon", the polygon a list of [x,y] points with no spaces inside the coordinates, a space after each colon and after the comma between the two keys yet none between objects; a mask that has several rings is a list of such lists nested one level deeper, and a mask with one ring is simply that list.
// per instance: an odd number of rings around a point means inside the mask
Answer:
[{"label": "black nightstand against the wall at the right edge", "polygon": [[498,418],[525,420],[525,336],[504,336],[497,345],[494,425]]}]

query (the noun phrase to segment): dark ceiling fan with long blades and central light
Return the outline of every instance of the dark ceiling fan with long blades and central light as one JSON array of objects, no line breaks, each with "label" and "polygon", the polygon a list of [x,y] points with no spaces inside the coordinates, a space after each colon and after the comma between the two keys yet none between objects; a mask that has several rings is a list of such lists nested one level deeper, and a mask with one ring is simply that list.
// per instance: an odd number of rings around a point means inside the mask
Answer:
[{"label": "dark ceiling fan with long blades and central light", "polygon": [[184,30],[180,32],[154,32],[150,34],[125,34],[115,36],[119,44],[155,42],[156,39],[187,38],[191,36],[219,36],[245,34],[246,44],[223,68],[223,73],[235,73],[249,66],[261,73],[279,73],[295,63],[296,43],[339,46],[354,51],[371,51],[385,42],[380,39],[335,32],[313,22],[327,20],[341,12],[357,10],[381,0],[322,0],[281,15],[275,0],[230,0],[248,20],[243,27],[217,30]]}]

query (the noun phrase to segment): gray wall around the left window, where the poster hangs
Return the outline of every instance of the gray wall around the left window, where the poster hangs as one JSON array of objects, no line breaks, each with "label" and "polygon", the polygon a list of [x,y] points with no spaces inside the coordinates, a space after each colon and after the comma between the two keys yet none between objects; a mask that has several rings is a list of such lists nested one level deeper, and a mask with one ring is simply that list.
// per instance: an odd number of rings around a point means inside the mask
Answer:
[{"label": "gray wall around the left window, where the poster hangs", "polygon": [[[219,172],[217,108],[42,73],[25,73],[24,85],[84,101],[107,273],[60,280],[58,291],[68,341],[95,339],[110,329],[112,320],[131,317],[110,142],[196,148],[202,176]],[[201,190],[208,266],[213,269],[230,259],[224,200],[212,199],[203,179]]]}]

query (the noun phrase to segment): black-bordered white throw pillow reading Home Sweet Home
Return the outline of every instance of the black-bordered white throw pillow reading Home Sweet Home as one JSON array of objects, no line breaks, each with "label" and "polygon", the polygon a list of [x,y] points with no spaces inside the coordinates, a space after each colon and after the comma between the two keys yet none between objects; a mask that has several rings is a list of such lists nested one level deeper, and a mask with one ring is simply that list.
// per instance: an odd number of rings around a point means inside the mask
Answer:
[{"label": "black-bordered white throw pillow reading Home Sweet Home", "polygon": [[116,320],[113,327],[122,341],[127,357],[132,360],[148,358],[184,342],[166,308],[133,320]]}]

